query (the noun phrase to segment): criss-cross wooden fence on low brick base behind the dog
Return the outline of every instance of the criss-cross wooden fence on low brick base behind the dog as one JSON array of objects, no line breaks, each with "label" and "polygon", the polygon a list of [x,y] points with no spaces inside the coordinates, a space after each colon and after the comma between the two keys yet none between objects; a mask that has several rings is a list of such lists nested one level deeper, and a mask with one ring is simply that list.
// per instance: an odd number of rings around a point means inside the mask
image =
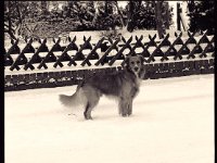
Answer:
[{"label": "criss-cross wooden fence on low brick base behind the dog", "polygon": [[167,34],[162,40],[156,35],[103,37],[98,42],[91,42],[91,37],[84,37],[84,42],[76,39],[12,42],[4,50],[4,90],[77,85],[92,74],[122,70],[125,57],[132,53],[145,59],[144,79],[214,73],[214,36],[207,32],[188,33],[188,37]]}]

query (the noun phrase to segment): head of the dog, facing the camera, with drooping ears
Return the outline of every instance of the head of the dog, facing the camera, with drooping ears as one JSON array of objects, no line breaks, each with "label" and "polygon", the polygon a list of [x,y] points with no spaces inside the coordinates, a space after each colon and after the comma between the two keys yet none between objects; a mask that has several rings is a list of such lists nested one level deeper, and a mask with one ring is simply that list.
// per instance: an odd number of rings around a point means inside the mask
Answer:
[{"label": "head of the dog, facing the camera, with drooping ears", "polygon": [[129,55],[124,61],[124,68],[139,76],[141,71],[143,71],[143,63],[144,58],[142,55]]}]

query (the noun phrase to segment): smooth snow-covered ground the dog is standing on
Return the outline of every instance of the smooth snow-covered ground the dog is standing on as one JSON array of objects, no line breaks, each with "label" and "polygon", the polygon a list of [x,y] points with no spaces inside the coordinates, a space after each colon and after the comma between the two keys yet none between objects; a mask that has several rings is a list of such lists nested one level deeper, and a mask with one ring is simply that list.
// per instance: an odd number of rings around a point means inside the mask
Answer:
[{"label": "smooth snow-covered ground the dog is standing on", "polygon": [[85,121],[75,89],[5,92],[5,163],[214,162],[214,75],[142,82],[130,117],[103,97]]}]

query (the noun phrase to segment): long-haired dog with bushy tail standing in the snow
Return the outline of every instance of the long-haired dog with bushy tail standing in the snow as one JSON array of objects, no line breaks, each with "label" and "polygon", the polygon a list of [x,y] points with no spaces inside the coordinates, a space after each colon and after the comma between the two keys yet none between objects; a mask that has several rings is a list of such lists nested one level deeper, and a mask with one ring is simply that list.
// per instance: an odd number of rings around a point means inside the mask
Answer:
[{"label": "long-haired dog with bushy tail standing in the snow", "polygon": [[138,95],[140,80],[145,74],[143,62],[142,55],[128,55],[120,71],[86,78],[77,86],[74,95],[60,95],[60,101],[66,106],[84,104],[85,118],[92,120],[92,109],[99,103],[102,95],[105,95],[118,100],[122,116],[129,116],[132,114],[132,100]]}]

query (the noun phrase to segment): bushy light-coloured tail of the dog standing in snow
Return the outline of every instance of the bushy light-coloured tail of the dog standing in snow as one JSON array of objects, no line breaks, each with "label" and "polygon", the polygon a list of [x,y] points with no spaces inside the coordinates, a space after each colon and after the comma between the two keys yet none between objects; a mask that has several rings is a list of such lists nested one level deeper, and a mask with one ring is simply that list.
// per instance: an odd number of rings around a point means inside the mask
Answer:
[{"label": "bushy light-coloured tail of the dog standing in snow", "polygon": [[60,95],[59,99],[61,101],[61,103],[65,106],[75,106],[81,103],[81,100],[84,101],[84,99],[80,99],[82,96],[80,95],[82,91],[81,89],[77,89],[76,92],[72,96],[66,96],[66,95]]}]

